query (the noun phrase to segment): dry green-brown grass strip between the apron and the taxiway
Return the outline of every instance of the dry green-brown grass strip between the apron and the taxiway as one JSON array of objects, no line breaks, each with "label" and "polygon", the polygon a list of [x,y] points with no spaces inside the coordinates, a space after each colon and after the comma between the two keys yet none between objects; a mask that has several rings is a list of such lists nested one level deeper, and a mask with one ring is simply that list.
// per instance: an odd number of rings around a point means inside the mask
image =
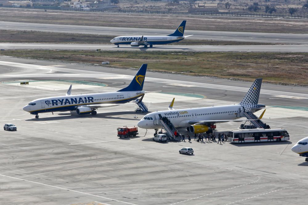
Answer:
[{"label": "dry green-brown grass strip between the apron and the taxiway", "polygon": [[128,52],[68,50],[6,50],[0,54],[77,61],[123,67],[140,66],[157,71],[185,72],[185,75],[254,79],[307,85],[308,53],[239,53],[239,52]]}]

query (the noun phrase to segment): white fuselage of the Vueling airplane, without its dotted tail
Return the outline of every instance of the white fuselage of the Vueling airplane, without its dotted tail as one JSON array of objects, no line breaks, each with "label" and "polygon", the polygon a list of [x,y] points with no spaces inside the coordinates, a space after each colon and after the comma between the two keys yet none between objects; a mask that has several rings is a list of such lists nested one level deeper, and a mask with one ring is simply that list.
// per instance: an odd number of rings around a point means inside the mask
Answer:
[{"label": "white fuselage of the Vueling airplane, without its dotted tail", "polygon": [[192,122],[202,120],[236,120],[239,118],[241,105],[221,105],[202,108],[188,108],[152,112],[138,122],[138,127],[144,129],[160,129],[159,114],[167,117],[175,127],[189,127]]}]

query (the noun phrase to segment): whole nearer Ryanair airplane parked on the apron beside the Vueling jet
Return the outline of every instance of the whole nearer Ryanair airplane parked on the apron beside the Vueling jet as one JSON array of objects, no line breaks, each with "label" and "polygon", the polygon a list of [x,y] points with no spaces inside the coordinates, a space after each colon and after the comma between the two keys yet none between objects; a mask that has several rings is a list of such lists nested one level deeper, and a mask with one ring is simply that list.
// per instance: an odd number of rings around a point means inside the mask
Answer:
[{"label": "whole nearer Ryanair airplane parked on the apron beside the Vueling jet", "polygon": [[[76,111],[77,114],[96,115],[96,109],[124,104],[143,97],[143,84],[148,64],[143,64],[132,82],[117,92],[71,95],[71,86],[66,96],[46,97],[31,101],[22,109],[39,118],[42,112]],[[142,99],[141,99],[142,100]],[[138,101],[138,103],[141,102]]]}]

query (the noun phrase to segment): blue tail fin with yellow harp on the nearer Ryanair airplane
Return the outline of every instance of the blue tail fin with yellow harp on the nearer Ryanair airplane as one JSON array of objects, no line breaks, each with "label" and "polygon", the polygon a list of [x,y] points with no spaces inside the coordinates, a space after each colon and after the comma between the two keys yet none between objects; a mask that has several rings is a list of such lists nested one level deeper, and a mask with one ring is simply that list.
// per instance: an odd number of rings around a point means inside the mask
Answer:
[{"label": "blue tail fin with yellow harp on the nearer Ryanair airplane", "polygon": [[148,64],[142,64],[138,73],[135,75],[135,77],[132,79],[132,82],[126,87],[123,88],[120,91],[140,91],[143,89],[144,84],[144,78],[145,73],[147,72]]}]

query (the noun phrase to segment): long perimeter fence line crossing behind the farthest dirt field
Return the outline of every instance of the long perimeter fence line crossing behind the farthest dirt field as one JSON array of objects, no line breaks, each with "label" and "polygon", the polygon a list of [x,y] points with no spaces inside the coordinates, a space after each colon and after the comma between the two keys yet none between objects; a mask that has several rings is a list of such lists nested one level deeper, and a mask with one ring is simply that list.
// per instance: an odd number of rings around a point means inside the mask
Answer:
[{"label": "long perimeter fence line crossing behind the farthest dirt field", "polygon": [[[4,8],[16,8],[14,6],[0,6]],[[24,9],[25,7],[19,7]],[[28,8],[27,8],[28,9]],[[29,8],[30,9],[30,8]],[[207,15],[207,16],[233,16],[233,17],[256,17],[256,18],[290,18],[290,19],[308,19],[307,15],[282,15],[282,14],[254,14],[250,12],[193,12],[188,11],[159,11],[159,10],[110,10],[104,8],[67,8],[59,6],[33,6],[31,9],[43,10],[67,10],[67,11],[84,11],[84,12],[103,12],[103,13],[120,13],[120,14],[177,14],[177,15]]]}]

